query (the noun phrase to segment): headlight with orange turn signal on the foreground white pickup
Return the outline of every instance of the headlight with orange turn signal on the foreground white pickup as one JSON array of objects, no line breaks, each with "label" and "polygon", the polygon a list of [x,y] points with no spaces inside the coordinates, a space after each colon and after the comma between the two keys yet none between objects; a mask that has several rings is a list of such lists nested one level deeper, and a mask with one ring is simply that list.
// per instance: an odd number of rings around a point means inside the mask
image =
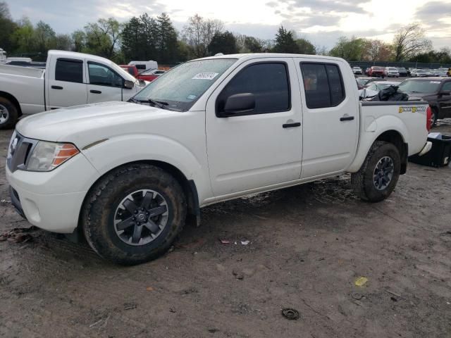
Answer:
[{"label": "headlight with orange turn signal on the foreground white pickup", "polygon": [[77,147],[70,143],[39,141],[27,161],[26,170],[50,171],[78,153]]}]

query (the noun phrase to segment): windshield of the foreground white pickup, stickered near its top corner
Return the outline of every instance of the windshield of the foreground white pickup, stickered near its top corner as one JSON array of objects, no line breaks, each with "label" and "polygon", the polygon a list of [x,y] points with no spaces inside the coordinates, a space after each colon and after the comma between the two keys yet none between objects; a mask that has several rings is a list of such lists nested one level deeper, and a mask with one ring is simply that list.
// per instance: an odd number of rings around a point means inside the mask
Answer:
[{"label": "windshield of the foreground white pickup, stickered near its top corner", "polygon": [[178,65],[137,93],[132,101],[161,102],[174,111],[187,111],[236,58],[214,58]]}]

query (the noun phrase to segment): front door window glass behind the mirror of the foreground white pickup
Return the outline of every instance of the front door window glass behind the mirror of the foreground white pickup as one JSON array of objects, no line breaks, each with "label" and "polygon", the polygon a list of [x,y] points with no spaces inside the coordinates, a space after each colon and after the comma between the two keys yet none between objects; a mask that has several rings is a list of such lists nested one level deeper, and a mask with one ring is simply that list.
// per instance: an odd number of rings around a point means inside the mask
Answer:
[{"label": "front door window glass behind the mirror of the foreground white pickup", "polygon": [[218,111],[223,111],[228,96],[252,93],[255,108],[252,114],[288,111],[290,84],[285,63],[257,63],[240,71],[218,96]]}]

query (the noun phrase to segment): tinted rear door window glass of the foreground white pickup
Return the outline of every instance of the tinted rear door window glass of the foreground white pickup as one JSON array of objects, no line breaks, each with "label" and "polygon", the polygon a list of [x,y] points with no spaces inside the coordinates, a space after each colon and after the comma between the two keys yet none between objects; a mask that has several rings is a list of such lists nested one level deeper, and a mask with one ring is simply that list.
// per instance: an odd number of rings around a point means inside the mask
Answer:
[{"label": "tinted rear door window glass of the foreground white pickup", "polygon": [[308,108],[335,107],[345,99],[345,89],[338,65],[301,63],[301,71]]}]

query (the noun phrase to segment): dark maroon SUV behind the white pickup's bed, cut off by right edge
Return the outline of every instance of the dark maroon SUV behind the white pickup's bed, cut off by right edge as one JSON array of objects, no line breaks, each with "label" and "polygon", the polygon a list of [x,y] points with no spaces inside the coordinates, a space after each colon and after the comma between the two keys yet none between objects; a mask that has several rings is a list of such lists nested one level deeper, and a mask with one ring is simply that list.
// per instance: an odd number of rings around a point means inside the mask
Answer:
[{"label": "dark maroon SUV behind the white pickup's bed, cut off by right edge", "polygon": [[433,125],[439,118],[451,118],[451,79],[407,79],[400,83],[399,90],[408,94],[409,100],[428,101],[432,108]]}]

